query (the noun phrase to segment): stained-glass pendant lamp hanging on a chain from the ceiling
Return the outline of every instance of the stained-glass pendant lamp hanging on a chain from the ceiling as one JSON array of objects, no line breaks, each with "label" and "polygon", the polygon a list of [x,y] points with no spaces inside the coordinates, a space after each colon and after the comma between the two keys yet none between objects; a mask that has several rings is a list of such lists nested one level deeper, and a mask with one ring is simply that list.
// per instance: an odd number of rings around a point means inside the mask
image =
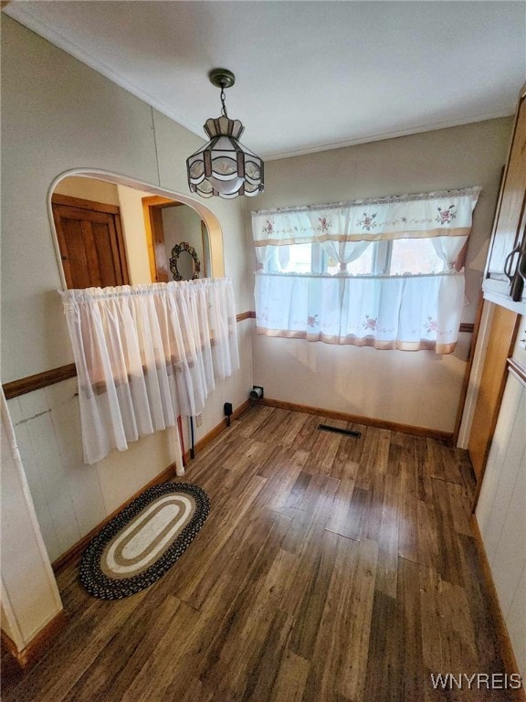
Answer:
[{"label": "stained-glass pendant lamp hanging on a chain from the ceiling", "polygon": [[254,197],[263,192],[263,161],[238,140],[245,127],[226,112],[225,90],[234,85],[234,73],[214,69],[212,85],[221,88],[221,115],[205,122],[208,144],[186,159],[188,186],[202,197]]}]

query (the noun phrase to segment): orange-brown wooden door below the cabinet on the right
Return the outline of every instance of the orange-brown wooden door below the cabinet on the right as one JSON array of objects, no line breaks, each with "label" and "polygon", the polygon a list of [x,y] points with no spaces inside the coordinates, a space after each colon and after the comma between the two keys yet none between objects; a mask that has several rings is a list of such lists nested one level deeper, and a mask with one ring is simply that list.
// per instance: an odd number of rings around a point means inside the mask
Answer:
[{"label": "orange-brown wooden door below the cabinet on the right", "polygon": [[500,305],[494,305],[489,344],[468,441],[469,456],[479,484],[484,475],[489,446],[497,425],[500,400],[506,384],[506,363],[513,351],[518,327],[518,314]]}]

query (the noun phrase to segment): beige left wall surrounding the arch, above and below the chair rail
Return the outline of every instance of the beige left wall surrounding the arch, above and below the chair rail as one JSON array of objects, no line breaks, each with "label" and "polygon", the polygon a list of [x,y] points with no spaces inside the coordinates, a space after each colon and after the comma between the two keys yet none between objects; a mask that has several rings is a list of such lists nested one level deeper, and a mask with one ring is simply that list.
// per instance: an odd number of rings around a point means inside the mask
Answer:
[{"label": "beige left wall surrounding the arch, above and below the chair rail", "polygon": [[[239,199],[208,200],[204,207],[188,196],[185,158],[199,144],[201,139],[146,103],[2,17],[2,382],[73,360],[57,293],[60,264],[48,202],[58,176],[77,169],[131,178],[147,191],[154,186],[195,202],[216,241],[223,232],[237,311],[248,309],[245,206]],[[222,269],[218,261],[215,271]],[[225,401],[237,407],[247,398],[249,322],[238,327],[241,370],[209,397],[197,439],[222,420]],[[96,466],[82,464],[75,381],[10,400],[9,412],[52,558],[174,460],[169,432],[158,432]],[[2,499],[3,505],[15,504],[11,484],[4,484]],[[13,528],[22,529],[26,509],[10,514]],[[31,580],[38,590],[45,578],[42,562],[28,554],[21,569],[18,561],[19,554],[5,550],[3,571],[13,587],[24,590]],[[37,631],[44,610],[17,602],[26,631]]]}]

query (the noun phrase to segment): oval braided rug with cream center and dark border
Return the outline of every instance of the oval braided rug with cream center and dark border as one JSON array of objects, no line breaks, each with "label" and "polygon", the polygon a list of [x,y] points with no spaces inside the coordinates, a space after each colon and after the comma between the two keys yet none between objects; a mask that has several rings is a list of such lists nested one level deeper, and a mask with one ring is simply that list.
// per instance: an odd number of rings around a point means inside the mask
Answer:
[{"label": "oval braided rug with cream center and dark border", "polygon": [[80,581],[102,600],[150,587],[184,553],[209,509],[208,495],[197,485],[164,483],[145,490],[89,543]]}]

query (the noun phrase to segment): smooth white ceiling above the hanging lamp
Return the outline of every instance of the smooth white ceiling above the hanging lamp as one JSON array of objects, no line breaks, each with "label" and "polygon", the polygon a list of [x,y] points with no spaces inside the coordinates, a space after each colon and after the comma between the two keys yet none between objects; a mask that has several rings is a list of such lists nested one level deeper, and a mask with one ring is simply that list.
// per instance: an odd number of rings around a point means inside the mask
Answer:
[{"label": "smooth white ceiling above the hanging lamp", "polygon": [[220,112],[265,158],[514,112],[524,2],[13,0],[5,13],[199,136]]}]

